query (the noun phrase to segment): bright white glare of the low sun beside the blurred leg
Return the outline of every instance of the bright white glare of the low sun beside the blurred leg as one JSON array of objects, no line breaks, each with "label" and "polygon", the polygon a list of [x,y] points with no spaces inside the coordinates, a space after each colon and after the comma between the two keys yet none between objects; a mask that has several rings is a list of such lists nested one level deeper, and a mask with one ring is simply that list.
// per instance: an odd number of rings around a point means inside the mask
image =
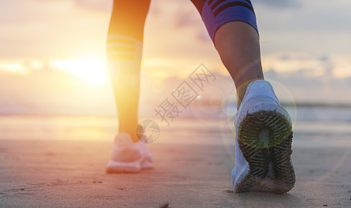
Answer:
[{"label": "bright white glare of the low sun beside the blurred leg", "polygon": [[88,83],[100,85],[108,80],[107,64],[104,60],[53,60],[53,67],[85,78]]}]

